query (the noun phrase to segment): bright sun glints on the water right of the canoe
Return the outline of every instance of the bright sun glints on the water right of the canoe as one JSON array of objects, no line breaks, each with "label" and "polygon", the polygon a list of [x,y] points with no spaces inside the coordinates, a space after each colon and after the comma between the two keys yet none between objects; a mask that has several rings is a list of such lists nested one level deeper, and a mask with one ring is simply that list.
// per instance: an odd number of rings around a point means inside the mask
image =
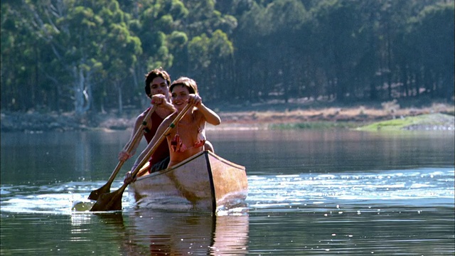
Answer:
[{"label": "bright sun glints on the water right of the canoe", "polygon": [[252,208],[343,203],[450,205],[453,203],[454,170],[381,171],[362,174],[301,174],[250,176],[248,201]]}]

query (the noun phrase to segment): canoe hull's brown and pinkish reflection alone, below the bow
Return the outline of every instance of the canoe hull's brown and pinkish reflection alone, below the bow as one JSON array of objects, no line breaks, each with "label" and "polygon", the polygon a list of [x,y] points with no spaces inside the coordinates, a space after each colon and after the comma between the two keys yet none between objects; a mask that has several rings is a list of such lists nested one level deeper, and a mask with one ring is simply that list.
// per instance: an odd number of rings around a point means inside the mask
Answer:
[{"label": "canoe hull's brown and pinkish reflection alone, below the bow", "polygon": [[139,210],[128,215],[128,223],[125,251],[148,247],[150,255],[247,254],[248,215]]}]

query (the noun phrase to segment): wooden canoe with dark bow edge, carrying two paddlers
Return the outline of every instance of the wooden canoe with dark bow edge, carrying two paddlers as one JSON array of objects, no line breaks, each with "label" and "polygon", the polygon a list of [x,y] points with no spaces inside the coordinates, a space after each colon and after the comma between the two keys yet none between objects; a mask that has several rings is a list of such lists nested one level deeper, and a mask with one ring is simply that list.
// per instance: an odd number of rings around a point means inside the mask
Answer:
[{"label": "wooden canoe with dark bow edge, carrying two paddlers", "polygon": [[141,176],[130,185],[141,206],[216,212],[245,206],[245,167],[202,151],[169,169]]}]

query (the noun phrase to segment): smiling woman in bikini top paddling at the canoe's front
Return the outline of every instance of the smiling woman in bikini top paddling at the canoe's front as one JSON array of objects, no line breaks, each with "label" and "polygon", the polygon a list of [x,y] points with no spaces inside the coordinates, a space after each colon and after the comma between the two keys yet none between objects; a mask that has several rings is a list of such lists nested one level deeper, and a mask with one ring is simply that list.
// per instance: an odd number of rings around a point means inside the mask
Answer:
[{"label": "smiling woman in bikini top paddling at the canoe's front", "polygon": [[[221,123],[221,119],[213,110],[210,110],[203,105],[202,99],[198,95],[198,86],[196,85],[196,82],[191,78],[178,78],[178,80],[175,80],[171,84],[169,90],[171,90],[171,100],[177,112],[166,117],[160,124],[156,131],[156,135],[151,139],[151,142],[147,148],[142,151],[138,159],[136,159],[131,171],[136,169],[149,150],[159,141],[161,134],[166,131],[169,125],[171,125],[171,122],[173,122],[173,119],[176,118],[178,113],[180,113],[187,104],[191,104],[193,107],[186,112],[180,122],[176,124],[176,127],[171,129],[171,132],[164,134],[168,142],[170,156],[168,167],[174,166],[181,161],[188,159],[188,157],[198,154],[200,151],[212,148],[205,140],[205,123],[218,125]],[[125,176],[124,181],[126,183],[134,181],[131,176],[131,171]]]}]

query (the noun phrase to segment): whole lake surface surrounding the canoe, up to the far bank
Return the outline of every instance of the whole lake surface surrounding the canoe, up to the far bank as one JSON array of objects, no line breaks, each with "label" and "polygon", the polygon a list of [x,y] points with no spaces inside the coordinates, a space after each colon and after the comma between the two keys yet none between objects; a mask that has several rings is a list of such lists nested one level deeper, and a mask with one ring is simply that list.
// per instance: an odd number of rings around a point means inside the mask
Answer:
[{"label": "whole lake surface surrounding the canoe, up to the far bank", "polygon": [[210,129],[215,152],[247,169],[247,208],[141,208],[125,191],[121,212],[71,210],[106,183],[128,138],[1,133],[1,255],[455,253],[453,131]]}]

